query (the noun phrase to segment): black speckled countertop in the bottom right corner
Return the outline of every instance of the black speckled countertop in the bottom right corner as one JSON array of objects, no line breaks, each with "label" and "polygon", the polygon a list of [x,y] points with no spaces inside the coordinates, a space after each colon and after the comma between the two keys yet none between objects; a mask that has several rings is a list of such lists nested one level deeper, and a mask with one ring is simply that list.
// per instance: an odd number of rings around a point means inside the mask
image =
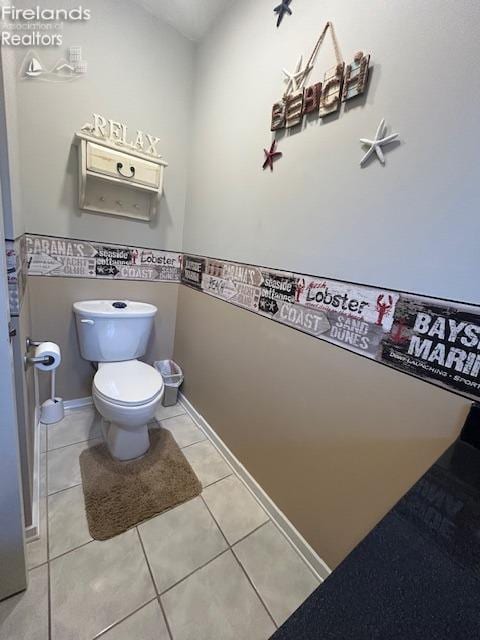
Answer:
[{"label": "black speckled countertop in the bottom right corner", "polygon": [[478,638],[480,451],[457,442],[271,640]]}]

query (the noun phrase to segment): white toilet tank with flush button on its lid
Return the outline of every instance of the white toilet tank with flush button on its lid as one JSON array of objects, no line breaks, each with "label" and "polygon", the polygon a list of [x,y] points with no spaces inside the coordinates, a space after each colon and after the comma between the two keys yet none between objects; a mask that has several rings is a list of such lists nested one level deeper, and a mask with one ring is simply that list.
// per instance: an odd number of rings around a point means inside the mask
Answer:
[{"label": "white toilet tank with flush button on its lid", "polygon": [[134,360],[147,350],[157,308],[130,300],[73,304],[82,358],[91,362]]}]

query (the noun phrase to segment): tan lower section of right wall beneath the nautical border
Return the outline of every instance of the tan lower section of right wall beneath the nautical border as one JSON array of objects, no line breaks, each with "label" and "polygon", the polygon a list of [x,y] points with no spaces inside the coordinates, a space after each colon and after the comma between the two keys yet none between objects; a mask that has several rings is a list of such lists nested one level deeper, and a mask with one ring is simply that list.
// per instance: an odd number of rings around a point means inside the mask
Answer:
[{"label": "tan lower section of right wall beneath the nautical border", "polygon": [[187,287],[184,393],[336,566],[457,436],[469,402]]}]

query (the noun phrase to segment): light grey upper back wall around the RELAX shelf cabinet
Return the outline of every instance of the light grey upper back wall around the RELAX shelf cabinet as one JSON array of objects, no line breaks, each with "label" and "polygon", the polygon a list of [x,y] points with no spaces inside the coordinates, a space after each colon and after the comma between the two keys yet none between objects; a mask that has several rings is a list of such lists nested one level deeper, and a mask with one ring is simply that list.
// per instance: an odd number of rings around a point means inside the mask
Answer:
[{"label": "light grey upper back wall around the RELAX shelf cabinet", "polygon": [[[42,7],[51,3],[42,0]],[[30,6],[22,0],[17,7]],[[92,18],[67,23],[65,47],[42,49],[53,65],[81,45],[87,75],[50,84],[18,79],[20,166],[27,231],[179,250],[192,111],[194,47],[168,25],[127,0],[91,0]],[[78,6],[77,0],[62,8]],[[28,49],[17,51],[17,69]],[[92,215],[77,207],[73,135],[92,112],[161,138],[169,163],[165,195],[152,224]]]}]

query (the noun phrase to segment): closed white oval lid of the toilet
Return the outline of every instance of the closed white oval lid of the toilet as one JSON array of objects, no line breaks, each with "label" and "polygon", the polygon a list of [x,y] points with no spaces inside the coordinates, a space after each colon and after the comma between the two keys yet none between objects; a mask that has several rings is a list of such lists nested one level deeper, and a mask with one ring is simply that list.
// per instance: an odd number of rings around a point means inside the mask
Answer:
[{"label": "closed white oval lid of the toilet", "polygon": [[135,406],[147,404],[163,389],[160,373],[144,362],[108,362],[93,379],[95,391],[107,401]]}]

